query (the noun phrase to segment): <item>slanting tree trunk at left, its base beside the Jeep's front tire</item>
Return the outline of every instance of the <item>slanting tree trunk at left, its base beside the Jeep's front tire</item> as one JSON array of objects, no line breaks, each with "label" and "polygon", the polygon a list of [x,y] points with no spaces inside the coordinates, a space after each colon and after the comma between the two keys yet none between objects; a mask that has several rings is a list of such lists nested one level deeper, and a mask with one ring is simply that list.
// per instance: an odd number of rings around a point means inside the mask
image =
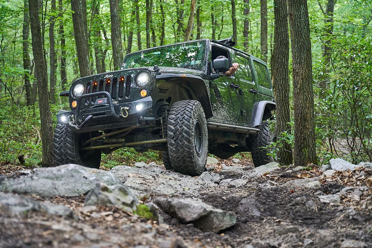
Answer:
[{"label": "slanting tree trunk at left, its base beside the Jeep's front tire", "polygon": [[54,166],[52,117],[49,107],[48,75],[42,51],[41,27],[37,0],[29,0],[32,52],[37,74],[41,119],[42,166]]}]

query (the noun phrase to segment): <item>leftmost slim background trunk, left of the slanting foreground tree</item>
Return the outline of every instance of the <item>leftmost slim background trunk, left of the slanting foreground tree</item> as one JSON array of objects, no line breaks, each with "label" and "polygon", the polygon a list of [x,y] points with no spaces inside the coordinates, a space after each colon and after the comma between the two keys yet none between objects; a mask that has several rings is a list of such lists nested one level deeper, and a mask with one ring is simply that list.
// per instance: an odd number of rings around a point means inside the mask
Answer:
[{"label": "leftmost slim background trunk, left of the slanting foreground tree", "polygon": [[23,13],[23,29],[22,29],[22,45],[23,45],[23,69],[27,70],[25,73],[25,92],[26,92],[26,104],[30,106],[33,104],[32,101],[32,87],[30,84],[30,55],[28,54],[28,36],[29,36],[29,26],[30,19],[28,16],[28,0],[24,0],[24,9]]}]

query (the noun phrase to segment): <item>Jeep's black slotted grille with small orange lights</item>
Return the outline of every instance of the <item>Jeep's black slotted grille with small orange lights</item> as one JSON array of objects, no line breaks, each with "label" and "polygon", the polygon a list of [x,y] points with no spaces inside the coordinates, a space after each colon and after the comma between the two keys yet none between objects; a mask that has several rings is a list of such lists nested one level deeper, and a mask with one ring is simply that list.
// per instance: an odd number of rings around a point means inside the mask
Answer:
[{"label": "Jeep's black slotted grille with small orange lights", "polygon": [[[125,97],[129,97],[131,94],[131,80],[132,76],[121,76],[121,77],[112,77],[106,78],[101,80],[95,80],[92,82],[88,82],[85,85],[85,94],[94,93],[99,91],[107,91],[113,101],[117,101],[123,99]],[[105,97],[102,96],[94,96],[94,97],[87,97],[85,99],[86,104],[92,104],[96,102],[98,98]]]}]

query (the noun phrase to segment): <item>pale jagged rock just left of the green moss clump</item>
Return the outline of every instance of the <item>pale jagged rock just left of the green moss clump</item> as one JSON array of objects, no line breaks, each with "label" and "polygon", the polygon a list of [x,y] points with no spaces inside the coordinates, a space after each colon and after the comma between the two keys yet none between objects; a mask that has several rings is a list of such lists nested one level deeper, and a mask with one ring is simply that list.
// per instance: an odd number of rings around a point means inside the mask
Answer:
[{"label": "pale jagged rock just left of the green moss clump", "polygon": [[138,204],[137,197],[126,186],[108,186],[104,183],[96,184],[96,187],[89,191],[84,202],[84,206],[115,206],[128,212],[136,210]]}]

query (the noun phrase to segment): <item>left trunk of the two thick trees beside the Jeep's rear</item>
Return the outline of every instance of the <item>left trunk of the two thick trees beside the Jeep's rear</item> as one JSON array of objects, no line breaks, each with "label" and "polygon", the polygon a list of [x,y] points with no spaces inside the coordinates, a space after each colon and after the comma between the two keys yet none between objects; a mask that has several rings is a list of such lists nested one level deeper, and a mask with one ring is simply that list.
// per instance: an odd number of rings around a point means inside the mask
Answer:
[{"label": "left trunk of the two thick trees beside the Jeep's rear", "polygon": [[[291,121],[289,112],[289,36],[288,36],[288,10],[287,0],[275,0],[275,100],[276,100],[276,128],[278,136],[282,132],[291,133]],[[278,138],[279,138],[278,137]],[[278,139],[279,140],[279,139]],[[278,161],[282,165],[292,164],[292,148],[288,143],[278,151]]]}]

